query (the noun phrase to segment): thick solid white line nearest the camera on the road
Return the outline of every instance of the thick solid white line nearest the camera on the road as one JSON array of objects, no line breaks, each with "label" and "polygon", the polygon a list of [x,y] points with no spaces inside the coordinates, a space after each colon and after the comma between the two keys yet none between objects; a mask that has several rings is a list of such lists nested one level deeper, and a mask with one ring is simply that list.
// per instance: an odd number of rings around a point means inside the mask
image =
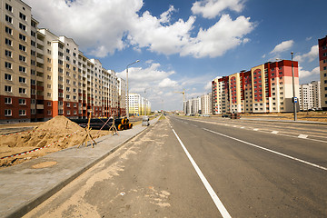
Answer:
[{"label": "thick solid white line nearest the camera on the road", "polygon": [[199,166],[194,162],[193,157],[191,156],[191,154],[189,154],[189,152],[187,151],[186,147],[183,145],[183,142],[181,141],[181,139],[178,137],[178,135],[176,134],[176,132],[174,130],[173,130],[173,134],[175,134],[178,142],[182,145],[185,154],[189,158],[190,162],[193,164],[193,167],[194,167],[196,173],[198,173],[198,175],[199,175],[201,181],[203,182],[205,188],[207,189],[208,193],[212,197],[213,203],[216,205],[217,209],[222,214],[223,218],[232,217],[227,212],[226,208],[223,206],[223,203],[221,202],[221,200],[219,199],[219,197],[217,196],[217,194],[214,192],[213,187],[206,180],[206,178],[204,177],[203,173],[201,172]]}]

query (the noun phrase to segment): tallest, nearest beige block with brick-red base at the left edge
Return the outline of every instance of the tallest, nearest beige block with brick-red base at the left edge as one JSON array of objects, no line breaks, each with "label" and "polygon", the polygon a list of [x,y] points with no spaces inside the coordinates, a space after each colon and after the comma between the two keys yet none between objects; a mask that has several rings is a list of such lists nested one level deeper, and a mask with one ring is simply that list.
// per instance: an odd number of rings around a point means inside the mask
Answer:
[{"label": "tallest, nearest beige block with brick-red base at the left edge", "polygon": [[[0,120],[31,119],[31,7],[22,1],[0,5]],[[33,23],[35,24],[35,23]],[[35,63],[35,58],[34,58]]]}]

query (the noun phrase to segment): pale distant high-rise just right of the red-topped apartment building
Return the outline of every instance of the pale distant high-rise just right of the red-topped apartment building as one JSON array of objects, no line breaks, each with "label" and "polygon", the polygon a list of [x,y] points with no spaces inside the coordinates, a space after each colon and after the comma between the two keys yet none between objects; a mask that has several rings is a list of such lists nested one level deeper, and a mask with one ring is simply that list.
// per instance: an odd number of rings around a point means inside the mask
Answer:
[{"label": "pale distant high-rise just right of the red-topped apartment building", "polygon": [[301,84],[299,103],[302,111],[321,109],[321,82],[312,81],[310,84]]}]

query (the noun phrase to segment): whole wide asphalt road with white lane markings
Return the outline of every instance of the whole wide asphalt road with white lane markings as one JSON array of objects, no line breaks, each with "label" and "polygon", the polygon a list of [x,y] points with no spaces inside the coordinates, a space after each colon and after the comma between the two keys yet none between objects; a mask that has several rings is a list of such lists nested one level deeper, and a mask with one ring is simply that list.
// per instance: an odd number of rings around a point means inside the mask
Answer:
[{"label": "whole wide asphalt road with white lane markings", "polygon": [[327,132],[252,124],[170,116],[25,217],[327,217]]}]

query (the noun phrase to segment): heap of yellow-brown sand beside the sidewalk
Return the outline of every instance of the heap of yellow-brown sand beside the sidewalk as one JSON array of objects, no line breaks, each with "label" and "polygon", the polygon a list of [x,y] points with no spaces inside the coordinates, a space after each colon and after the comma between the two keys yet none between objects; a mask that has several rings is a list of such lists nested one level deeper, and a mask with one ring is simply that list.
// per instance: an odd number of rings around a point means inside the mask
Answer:
[{"label": "heap of yellow-brown sand beside the sidewalk", "polygon": [[[22,163],[25,160],[34,159],[45,154],[50,154],[64,148],[81,144],[85,133],[84,128],[70,121],[66,117],[55,116],[44,124],[35,127],[31,132],[0,136],[0,158],[52,144],[45,149],[31,154],[0,159],[0,167]],[[96,133],[98,132],[91,132],[93,136],[95,136]],[[69,134],[73,135],[65,138]],[[104,134],[108,134],[108,132],[103,132],[97,136],[99,137]],[[59,143],[53,144],[58,141]]]}]

